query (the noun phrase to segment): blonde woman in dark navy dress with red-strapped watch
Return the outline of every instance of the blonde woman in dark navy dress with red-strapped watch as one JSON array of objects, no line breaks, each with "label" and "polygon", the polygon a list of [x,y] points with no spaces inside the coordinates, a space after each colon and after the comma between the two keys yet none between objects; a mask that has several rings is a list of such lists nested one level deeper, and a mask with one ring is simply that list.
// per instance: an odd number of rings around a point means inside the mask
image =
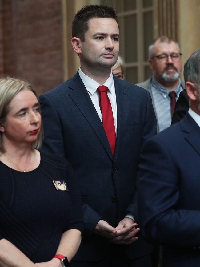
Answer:
[{"label": "blonde woman in dark navy dress with red-strapped watch", "polygon": [[0,266],[61,267],[81,241],[74,172],[40,153],[42,121],[34,88],[0,79]]}]

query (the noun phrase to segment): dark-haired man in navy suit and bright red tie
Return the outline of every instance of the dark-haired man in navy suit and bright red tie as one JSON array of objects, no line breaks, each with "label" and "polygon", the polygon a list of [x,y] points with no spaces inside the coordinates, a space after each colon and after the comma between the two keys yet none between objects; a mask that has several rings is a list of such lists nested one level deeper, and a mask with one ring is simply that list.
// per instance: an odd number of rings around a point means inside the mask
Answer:
[{"label": "dark-haired man in navy suit and bright red tie", "polygon": [[[70,161],[82,195],[85,229],[70,266],[149,267],[151,246],[138,234],[135,221],[138,158],[144,140],[157,128],[150,94],[111,72],[119,51],[112,8],[90,5],[79,10],[72,36],[78,72],[40,96],[42,150]],[[102,85],[109,115],[102,115]],[[111,137],[107,127],[112,127]]]}]

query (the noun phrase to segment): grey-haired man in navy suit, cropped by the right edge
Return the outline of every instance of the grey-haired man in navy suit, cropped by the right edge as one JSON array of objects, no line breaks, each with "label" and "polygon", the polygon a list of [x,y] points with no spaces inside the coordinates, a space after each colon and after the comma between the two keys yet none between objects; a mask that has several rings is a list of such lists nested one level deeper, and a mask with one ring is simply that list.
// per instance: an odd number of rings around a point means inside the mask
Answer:
[{"label": "grey-haired man in navy suit, cropped by the right edge", "polygon": [[145,142],[139,165],[142,233],[163,245],[163,267],[200,266],[200,49],[184,79],[189,111]]}]

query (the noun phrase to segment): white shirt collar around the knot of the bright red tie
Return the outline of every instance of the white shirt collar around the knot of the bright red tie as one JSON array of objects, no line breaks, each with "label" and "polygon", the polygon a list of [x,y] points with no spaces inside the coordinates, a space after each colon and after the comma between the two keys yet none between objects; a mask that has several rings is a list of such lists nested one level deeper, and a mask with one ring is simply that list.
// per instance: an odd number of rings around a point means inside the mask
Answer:
[{"label": "white shirt collar around the knot of the bright red tie", "polygon": [[105,85],[105,86],[107,86],[108,87],[108,90],[112,94],[112,92],[114,90],[114,80],[113,80],[112,71],[110,71],[110,76],[108,77],[108,79],[105,81],[104,84],[99,84],[96,81],[94,81],[93,79],[91,79],[90,77],[88,77],[87,75],[85,75],[82,72],[81,67],[79,67],[78,74],[79,74],[80,78],[82,79],[82,82],[84,83],[87,91],[91,95],[94,94],[94,92],[97,90],[97,88],[99,87],[99,85]]}]

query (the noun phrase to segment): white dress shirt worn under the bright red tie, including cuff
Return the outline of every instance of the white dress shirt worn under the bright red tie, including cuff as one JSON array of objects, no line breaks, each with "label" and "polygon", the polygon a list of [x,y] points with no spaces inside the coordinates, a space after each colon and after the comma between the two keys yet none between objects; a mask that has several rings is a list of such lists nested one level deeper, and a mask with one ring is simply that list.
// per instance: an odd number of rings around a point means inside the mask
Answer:
[{"label": "white dress shirt worn under the bright red tie, including cuff", "polygon": [[[108,87],[107,95],[108,95],[108,98],[110,99],[110,103],[111,103],[111,107],[112,107],[112,111],[113,111],[114,127],[115,127],[115,133],[117,136],[117,102],[116,102],[116,95],[115,95],[115,88],[114,88],[114,80],[113,80],[112,71],[110,72],[109,78],[103,84],[99,84],[96,81],[94,81],[93,79],[91,79],[90,77],[88,77],[87,75],[85,75],[82,72],[81,67],[78,70],[78,74],[79,74],[80,78],[82,79],[82,82],[84,83],[84,85],[88,91],[88,94],[90,95],[92,103],[93,103],[93,105],[94,105],[94,107],[95,107],[95,109],[99,115],[99,118],[101,119],[101,122],[102,122],[102,113],[101,113],[101,110],[99,107],[99,93],[97,91],[97,88],[99,87],[99,85],[105,85]],[[125,217],[131,218],[134,220],[134,215],[132,212],[127,212]]]}]

